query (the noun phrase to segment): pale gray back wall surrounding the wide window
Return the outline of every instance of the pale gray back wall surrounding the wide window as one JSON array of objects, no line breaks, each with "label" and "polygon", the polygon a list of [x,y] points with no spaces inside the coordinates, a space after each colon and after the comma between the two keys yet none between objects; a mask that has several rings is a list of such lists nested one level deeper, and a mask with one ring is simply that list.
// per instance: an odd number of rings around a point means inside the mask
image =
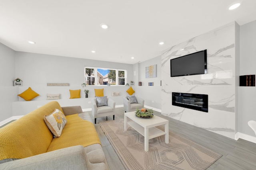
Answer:
[{"label": "pale gray back wall surrounding the wide window", "polygon": [[[20,97],[16,97],[19,102],[13,103],[13,115],[24,115],[33,111],[38,106],[42,106],[51,100],[46,101],[46,94],[60,93],[61,100],[57,100],[61,106],[80,105],[82,109],[91,108],[91,98],[95,96],[94,89],[104,88],[104,96],[112,98],[116,105],[122,105],[122,96],[126,96],[126,86],[86,86],[84,83],[84,66],[96,66],[103,68],[119,68],[127,70],[128,82],[132,80],[132,64],[112,63],[89,59],[70,58],[54,55],[44,55],[36,53],[16,52],[15,53],[15,74],[23,82],[22,87],[18,87],[17,94],[24,92],[31,87],[40,96],[27,102]],[[69,83],[69,86],[47,86],[47,83]],[[69,90],[81,89],[82,99],[69,99]],[[85,99],[83,90],[89,90]],[[120,96],[112,97],[112,92],[120,92]],[[16,94],[16,95],[17,95]]]}]

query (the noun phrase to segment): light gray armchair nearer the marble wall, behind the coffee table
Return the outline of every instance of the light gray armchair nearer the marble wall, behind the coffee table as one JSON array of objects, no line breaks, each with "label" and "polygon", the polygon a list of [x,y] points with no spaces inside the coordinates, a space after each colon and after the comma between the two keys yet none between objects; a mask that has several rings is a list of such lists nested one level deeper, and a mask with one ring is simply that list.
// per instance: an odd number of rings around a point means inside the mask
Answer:
[{"label": "light gray armchair nearer the marble wall, behind the coffee table", "polygon": [[144,100],[138,96],[135,96],[138,103],[132,103],[127,99],[127,97],[123,97],[124,102],[124,111],[130,112],[130,111],[136,111],[137,109],[144,108]]}]

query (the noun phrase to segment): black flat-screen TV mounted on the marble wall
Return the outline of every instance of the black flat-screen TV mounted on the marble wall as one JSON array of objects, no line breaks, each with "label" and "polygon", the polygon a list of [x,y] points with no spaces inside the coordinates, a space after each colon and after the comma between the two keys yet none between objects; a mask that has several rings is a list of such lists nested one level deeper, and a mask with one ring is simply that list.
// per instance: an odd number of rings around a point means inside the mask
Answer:
[{"label": "black flat-screen TV mounted on the marble wall", "polygon": [[207,73],[206,50],[171,59],[171,77]]}]

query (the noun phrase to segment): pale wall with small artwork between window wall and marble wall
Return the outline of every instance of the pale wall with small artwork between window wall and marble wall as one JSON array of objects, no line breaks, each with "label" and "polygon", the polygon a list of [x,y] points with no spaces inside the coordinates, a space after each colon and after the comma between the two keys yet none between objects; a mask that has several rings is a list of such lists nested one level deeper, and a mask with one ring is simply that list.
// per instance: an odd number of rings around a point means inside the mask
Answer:
[{"label": "pale wall with small artwork between window wall and marble wall", "polygon": [[[146,66],[154,64],[156,64],[157,68],[157,77],[146,78]],[[137,65],[134,64],[135,69],[138,69],[138,80],[135,82],[135,86],[133,86],[135,95],[143,98],[146,106],[156,108],[158,111],[161,110],[161,56],[137,63]],[[142,82],[142,86],[138,86],[138,82]],[[148,86],[149,82],[154,82],[154,86]]]}]

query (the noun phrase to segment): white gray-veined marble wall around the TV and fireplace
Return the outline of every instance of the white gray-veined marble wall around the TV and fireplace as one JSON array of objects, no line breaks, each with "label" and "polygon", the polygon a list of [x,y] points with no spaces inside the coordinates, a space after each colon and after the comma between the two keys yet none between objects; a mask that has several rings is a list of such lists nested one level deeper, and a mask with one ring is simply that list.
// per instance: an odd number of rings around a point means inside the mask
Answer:
[{"label": "white gray-veined marble wall around the TV and fireplace", "polygon": [[[207,74],[170,77],[170,59],[204,49]],[[208,94],[208,113],[172,106],[172,92]],[[235,99],[234,23],[174,45],[162,54],[163,115],[234,139]]]}]

